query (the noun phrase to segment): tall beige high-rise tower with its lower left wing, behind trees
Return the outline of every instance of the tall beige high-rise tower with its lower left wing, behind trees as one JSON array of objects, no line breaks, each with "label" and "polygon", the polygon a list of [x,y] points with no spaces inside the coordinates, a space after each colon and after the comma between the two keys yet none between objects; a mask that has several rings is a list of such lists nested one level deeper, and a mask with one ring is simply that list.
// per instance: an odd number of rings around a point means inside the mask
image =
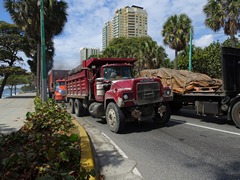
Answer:
[{"label": "tall beige high-rise tower with its lower left wing, behind trees", "polygon": [[[110,21],[104,24],[103,28],[103,50],[108,46],[109,41],[106,37],[146,37],[148,30],[148,14],[143,7],[132,5],[124,6],[123,8],[117,9],[113,20],[111,21],[112,31]],[[112,39],[110,38],[110,39]]]}]

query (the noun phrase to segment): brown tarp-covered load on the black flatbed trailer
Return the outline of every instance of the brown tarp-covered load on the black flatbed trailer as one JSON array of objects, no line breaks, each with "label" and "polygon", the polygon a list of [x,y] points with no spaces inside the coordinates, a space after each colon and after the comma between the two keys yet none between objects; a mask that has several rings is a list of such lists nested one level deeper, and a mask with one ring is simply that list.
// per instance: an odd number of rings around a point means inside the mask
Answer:
[{"label": "brown tarp-covered load on the black flatbed trailer", "polygon": [[171,86],[177,94],[198,89],[214,90],[222,85],[221,79],[213,79],[206,74],[168,68],[142,70],[137,77],[158,77],[163,86]]}]

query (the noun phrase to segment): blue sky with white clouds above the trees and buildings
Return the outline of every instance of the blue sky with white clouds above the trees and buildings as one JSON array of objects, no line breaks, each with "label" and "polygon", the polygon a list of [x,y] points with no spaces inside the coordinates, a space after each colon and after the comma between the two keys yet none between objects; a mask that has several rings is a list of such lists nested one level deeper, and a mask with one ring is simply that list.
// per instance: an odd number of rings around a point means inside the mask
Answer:
[{"label": "blue sky with white clouds above the trees and buildings", "polygon": [[[203,6],[207,0],[66,0],[68,21],[61,35],[54,37],[55,56],[53,69],[70,70],[80,64],[81,47],[98,47],[102,50],[102,28],[112,20],[114,12],[124,6],[137,5],[148,13],[148,35],[163,46],[168,57],[174,59],[174,50],[163,45],[161,35],[163,24],[169,16],[185,13],[192,19],[194,28],[193,44],[204,48],[213,41],[225,41],[229,36],[223,30],[215,33],[204,25]],[[0,0],[0,21],[13,23]],[[29,70],[27,58],[23,68]]]}]

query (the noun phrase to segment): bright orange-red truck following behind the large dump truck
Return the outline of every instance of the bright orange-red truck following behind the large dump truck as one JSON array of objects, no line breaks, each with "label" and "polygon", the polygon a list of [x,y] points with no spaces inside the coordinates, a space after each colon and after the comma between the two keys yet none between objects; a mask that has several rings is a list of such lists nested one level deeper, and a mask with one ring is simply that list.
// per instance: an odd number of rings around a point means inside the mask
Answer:
[{"label": "bright orange-red truck following behind the large dump truck", "polygon": [[58,101],[66,98],[65,77],[69,70],[52,70],[48,76],[49,97]]}]

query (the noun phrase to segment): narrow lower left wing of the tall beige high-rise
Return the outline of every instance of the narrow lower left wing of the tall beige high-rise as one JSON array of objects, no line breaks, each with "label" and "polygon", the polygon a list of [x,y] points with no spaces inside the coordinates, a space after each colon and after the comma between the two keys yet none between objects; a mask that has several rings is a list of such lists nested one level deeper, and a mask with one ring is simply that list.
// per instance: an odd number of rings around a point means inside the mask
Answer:
[{"label": "narrow lower left wing of the tall beige high-rise", "polygon": [[112,40],[112,21],[107,21],[104,23],[103,35],[102,35],[102,48],[103,50],[109,45]]}]

